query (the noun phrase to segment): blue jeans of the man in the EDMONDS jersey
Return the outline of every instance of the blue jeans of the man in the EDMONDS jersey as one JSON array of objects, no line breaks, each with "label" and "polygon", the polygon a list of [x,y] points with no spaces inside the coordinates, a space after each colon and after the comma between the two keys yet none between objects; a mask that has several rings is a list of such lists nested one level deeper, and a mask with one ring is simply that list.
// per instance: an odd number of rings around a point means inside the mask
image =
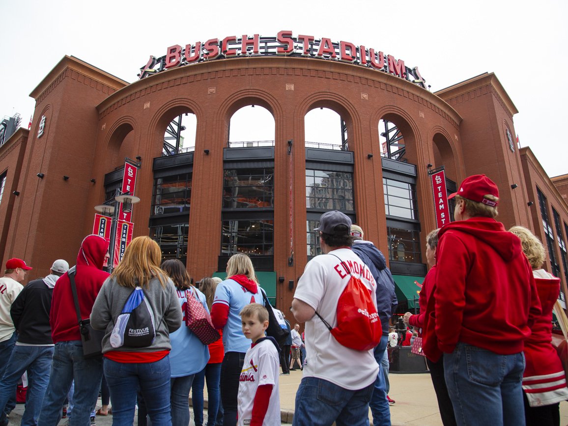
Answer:
[{"label": "blue jeans of the man in the EDMONDS jersey", "polygon": [[369,426],[374,383],[348,390],[324,379],[304,377],[296,392],[293,426]]}]

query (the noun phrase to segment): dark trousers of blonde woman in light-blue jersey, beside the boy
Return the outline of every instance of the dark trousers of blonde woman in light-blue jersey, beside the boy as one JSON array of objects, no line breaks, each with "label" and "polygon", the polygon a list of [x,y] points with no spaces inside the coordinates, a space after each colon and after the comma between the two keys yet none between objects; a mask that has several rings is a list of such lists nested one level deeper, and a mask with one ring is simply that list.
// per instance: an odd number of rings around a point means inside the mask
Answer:
[{"label": "dark trousers of blonde woman in light-blue jersey, beside the boy", "polygon": [[223,425],[237,424],[237,395],[239,377],[243,370],[245,352],[227,352],[221,364],[221,401],[223,402]]}]

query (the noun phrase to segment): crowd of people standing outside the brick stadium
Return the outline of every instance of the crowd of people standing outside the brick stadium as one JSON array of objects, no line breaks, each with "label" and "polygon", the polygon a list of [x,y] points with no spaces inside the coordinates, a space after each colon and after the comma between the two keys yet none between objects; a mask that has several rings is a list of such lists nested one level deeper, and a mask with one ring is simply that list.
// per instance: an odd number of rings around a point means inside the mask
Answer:
[{"label": "crowd of people standing outside the brick stadium", "polygon": [[[545,249],[529,229],[507,231],[495,220],[499,191],[485,175],[466,178],[449,198],[454,222],[426,238],[430,269],[419,312],[395,324],[385,256],[339,211],[325,212],[315,229],[323,254],[298,281],[294,328],[268,306],[243,253],[229,258],[226,279],[205,277],[199,288],[181,261],[162,262],[149,237],[133,239],[111,274],[103,270],[108,241],[97,235],[82,241],[72,268],[56,260],[26,286],[31,266],[10,259],[0,278],[0,426],[9,422],[24,372],[26,426],[55,426],[64,414],[71,426],[92,425],[95,414],[130,425],[136,407],[139,425],[186,426],[190,395],[202,426],[205,383],[207,426],[273,426],[280,424],[279,375],[296,366],[303,378],[294,425],[369,425],[369,409],[374,426],[390,425],[389,346],[415,339],[422,339],[445,426],[558,426],[559,402],[568,399],[551,343],[560,280],[542,269]],[[358,289],[350,302],[346,288]],[[337,335],[338,316],[364,299],[370,311],[359,314],[380,327],[371,336],[353,330],[353,339],[372,343],[353,348]],[[186,326],[196,304],[219,330],[212,343]],[[267,336],[272,314],[281,316],[286,339]],[[83,344],[97,331],[102,354],[89,356]]]}]

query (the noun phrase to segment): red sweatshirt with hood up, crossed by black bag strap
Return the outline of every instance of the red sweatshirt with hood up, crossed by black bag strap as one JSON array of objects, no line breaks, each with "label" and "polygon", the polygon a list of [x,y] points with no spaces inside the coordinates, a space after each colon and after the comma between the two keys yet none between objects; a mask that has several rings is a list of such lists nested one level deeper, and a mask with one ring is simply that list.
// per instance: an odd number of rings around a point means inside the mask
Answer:
[{"label": "red sweatshirt with hood up, crossed by black bag strap", "polygon": [[[81,319],[89,319],[97,294],[108,278],[108,272],[102,270],[107,252],[108,242],[98,235],[89,235],[81,243],[75,274]],[[81,340],[77,311],[67,273],[61,275],[53,289],[49,323],[53,343]]]}]

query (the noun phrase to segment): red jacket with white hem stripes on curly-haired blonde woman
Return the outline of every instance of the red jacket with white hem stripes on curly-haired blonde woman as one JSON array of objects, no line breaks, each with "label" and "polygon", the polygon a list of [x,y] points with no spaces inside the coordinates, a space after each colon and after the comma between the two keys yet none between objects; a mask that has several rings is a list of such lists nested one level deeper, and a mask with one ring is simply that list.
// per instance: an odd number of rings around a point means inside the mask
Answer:
[{"label": "red jacket with white hem stripes on curly-haired blonde woman", "polygon": [[[525,340],[523,390],[531,407],[540,407],[568,399],[566,375],[562,362],[550,339],[552,336],[552,308],[560,291],[560,278],[534,271],[542,315],[532,326],[531,336]],[[548,277],[548,278],[544,278]]]}]

